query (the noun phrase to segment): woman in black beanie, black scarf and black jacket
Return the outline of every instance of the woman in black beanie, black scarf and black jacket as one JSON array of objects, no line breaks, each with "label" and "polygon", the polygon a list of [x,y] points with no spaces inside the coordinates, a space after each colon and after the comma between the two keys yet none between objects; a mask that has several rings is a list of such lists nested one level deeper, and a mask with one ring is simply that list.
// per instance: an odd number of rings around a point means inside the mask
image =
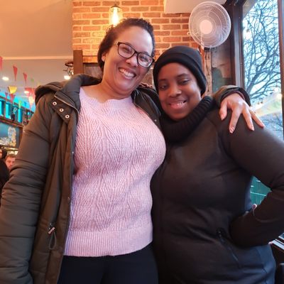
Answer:
[{"label": "woman in black beanie, black scarf and black jacket", "polygon": [[[176,46],[153,70],[167,143],[151,180],[160,284],[273,284],[269,246],[284,231],[284,143],[266,129],[233,134],[219,119],[196,50]],[[251,179],[271,192],[254,208]]]}]

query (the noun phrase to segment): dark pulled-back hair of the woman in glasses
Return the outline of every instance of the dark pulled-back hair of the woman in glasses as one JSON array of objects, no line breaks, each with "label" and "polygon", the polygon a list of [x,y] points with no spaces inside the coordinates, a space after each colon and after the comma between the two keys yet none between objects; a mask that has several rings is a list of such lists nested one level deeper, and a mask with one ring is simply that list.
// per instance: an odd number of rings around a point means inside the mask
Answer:
[{"label": "dark pulled-back hair of the woman in glasses", "polygon": [[151,35],[152,42],[153,42],[153,50],[151,56],[155,55],[155,37],[153,26],[148,21],[144,20],[143,18],[125,18],[117,26],[110,26],[107,29],[106,35],[102,42],[99,45],[99,51],[97,53],[97,60],[99,67],[101,68],[102,72],[104,72],[104,61],[102,60],[102,55],[107,53],[111,46],[114,45],[114,41],[119,37],[119,33],[126,30],[126,28],[130,28],[132,26],[138,26],[143,28],[145,31]]}]

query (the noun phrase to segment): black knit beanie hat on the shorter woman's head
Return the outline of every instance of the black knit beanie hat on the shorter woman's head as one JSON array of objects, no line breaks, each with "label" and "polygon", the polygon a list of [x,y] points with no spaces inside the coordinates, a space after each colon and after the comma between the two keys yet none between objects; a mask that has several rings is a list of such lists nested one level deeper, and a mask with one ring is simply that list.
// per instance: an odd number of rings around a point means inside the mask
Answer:
[{"label": "black knit beanie hat on the shorter woman's head", "polygon": [[202,61],[198,50],[189,48],[185,45],[174,46],[165,50],[155,62],[153,68],[153,78],[155,89],[158,91],[158,73],[160,68],[168,63],[177,62],[187,67],[197,80],[201,94],[206,91],[206,77],[202,71]]}]

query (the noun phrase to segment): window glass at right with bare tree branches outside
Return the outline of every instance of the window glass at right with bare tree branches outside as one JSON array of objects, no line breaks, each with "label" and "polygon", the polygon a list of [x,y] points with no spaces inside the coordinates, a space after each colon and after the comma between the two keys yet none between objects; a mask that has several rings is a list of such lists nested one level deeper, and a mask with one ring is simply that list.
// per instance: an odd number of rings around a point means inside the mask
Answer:
[{"label": "window glass at right with bare tree branches outside", "polygon": [[[258,117],[283,139],[278,4],[278,0],[247,0],[242,6],[243,82]],[[268,191],[254,178],[252,202],[259,204]]]}]

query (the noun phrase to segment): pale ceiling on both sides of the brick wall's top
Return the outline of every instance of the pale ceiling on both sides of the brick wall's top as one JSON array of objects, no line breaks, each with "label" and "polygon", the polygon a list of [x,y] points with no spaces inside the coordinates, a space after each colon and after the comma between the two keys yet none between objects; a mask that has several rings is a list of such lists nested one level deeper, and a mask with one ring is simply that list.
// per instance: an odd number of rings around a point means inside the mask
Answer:
[{"label": "pale ceiling on both sides of the brick wall's top", "polygon": [[[165,13],[190,13],[201,2],[165,0]],[[16,86],[16,102],[27,104],[25,87],[64,80],[65,62],[72,60],[72,0],[0,0],[0,57],[2,97],[8,86]]]}]

